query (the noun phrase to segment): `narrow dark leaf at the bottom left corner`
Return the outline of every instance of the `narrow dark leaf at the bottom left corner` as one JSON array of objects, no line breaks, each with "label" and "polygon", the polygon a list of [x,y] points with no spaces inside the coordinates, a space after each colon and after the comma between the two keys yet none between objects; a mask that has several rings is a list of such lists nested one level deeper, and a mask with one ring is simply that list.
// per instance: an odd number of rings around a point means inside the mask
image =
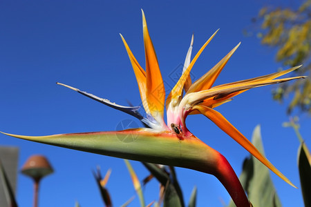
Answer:
[{"label": "narrow dark leaf at the bottom left corner", "polygon": [[6,170],[4,170],[1,160],[0,160],[0,183],[2,184],[4,194],[6,195],[6,201],[8,202],[9,206],[17,207],[18,205],[15,200],[15,195],[13,193],[10,181],[8,180]]}]

